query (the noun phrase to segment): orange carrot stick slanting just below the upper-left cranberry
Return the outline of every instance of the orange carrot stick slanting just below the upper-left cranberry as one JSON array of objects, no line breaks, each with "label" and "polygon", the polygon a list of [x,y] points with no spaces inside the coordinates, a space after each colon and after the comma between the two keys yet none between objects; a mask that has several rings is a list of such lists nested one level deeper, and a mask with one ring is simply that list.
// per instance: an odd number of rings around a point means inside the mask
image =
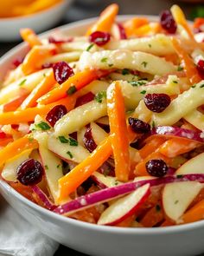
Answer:
[{"label": "orange carrot stick slanting just below the upper-left cranberry", "polygon": [[66,97],[68,89],[70,89],[71,87],[74,86],[74,90],[82,89],[86,86],[86,84],[92,82],[98,77],[99,73],[96,70],[86,69],[84,71],[76,73],[75,75],[69,77],[66,82],[63,82],[60,86],[48,92],[48,94],[43,95],[37,102],[41,104],[56,102],[61,98]]}]

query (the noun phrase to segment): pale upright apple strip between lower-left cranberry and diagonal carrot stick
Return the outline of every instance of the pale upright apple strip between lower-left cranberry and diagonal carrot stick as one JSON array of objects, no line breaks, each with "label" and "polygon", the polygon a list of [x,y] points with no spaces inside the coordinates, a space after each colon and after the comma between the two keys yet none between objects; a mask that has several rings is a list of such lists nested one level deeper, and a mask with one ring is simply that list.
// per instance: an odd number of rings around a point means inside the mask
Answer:
[{"label": "pale upright apple strip between lower-left cranberry and diagonal carrot stick", "polygon": [[56,203],[59,194],[58,180],[63,176],[61,160],[48,150],[48,134],[35,132],[35,140],[39,143],[41,161],[45,170],[48,188]]}]

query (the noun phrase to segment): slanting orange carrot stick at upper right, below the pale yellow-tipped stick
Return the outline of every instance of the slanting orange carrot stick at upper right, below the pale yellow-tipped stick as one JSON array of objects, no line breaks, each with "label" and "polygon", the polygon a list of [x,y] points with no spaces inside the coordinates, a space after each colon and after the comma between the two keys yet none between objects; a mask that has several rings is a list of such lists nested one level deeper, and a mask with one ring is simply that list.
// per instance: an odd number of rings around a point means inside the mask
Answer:
[{"label": "slanting orange carrot stick at upper right, below the pale yellow-tipped stick", "polygon": [[183,49],[181,43],[177,39],[172,38],[171,40],[177,55],[182,61],[184,70],[191,84],[200,82],[201,75],[199,75],[198,70],[195,68],[193,60],[188,56],[188,53]]}]

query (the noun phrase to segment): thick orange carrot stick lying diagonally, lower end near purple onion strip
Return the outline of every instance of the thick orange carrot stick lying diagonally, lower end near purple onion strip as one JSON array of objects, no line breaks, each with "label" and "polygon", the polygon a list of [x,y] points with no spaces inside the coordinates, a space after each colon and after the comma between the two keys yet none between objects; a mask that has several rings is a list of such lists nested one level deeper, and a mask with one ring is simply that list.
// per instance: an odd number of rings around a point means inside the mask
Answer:
[{"label": "thick orange carrot stick lying diagonally, lower end near purple onion strip", "polygon": [[71,172],[59,180],[59,200],[65,200],[81,183],[95,172],[112,154],[110,137],[102,141],[86,160],[80,162]]}]

